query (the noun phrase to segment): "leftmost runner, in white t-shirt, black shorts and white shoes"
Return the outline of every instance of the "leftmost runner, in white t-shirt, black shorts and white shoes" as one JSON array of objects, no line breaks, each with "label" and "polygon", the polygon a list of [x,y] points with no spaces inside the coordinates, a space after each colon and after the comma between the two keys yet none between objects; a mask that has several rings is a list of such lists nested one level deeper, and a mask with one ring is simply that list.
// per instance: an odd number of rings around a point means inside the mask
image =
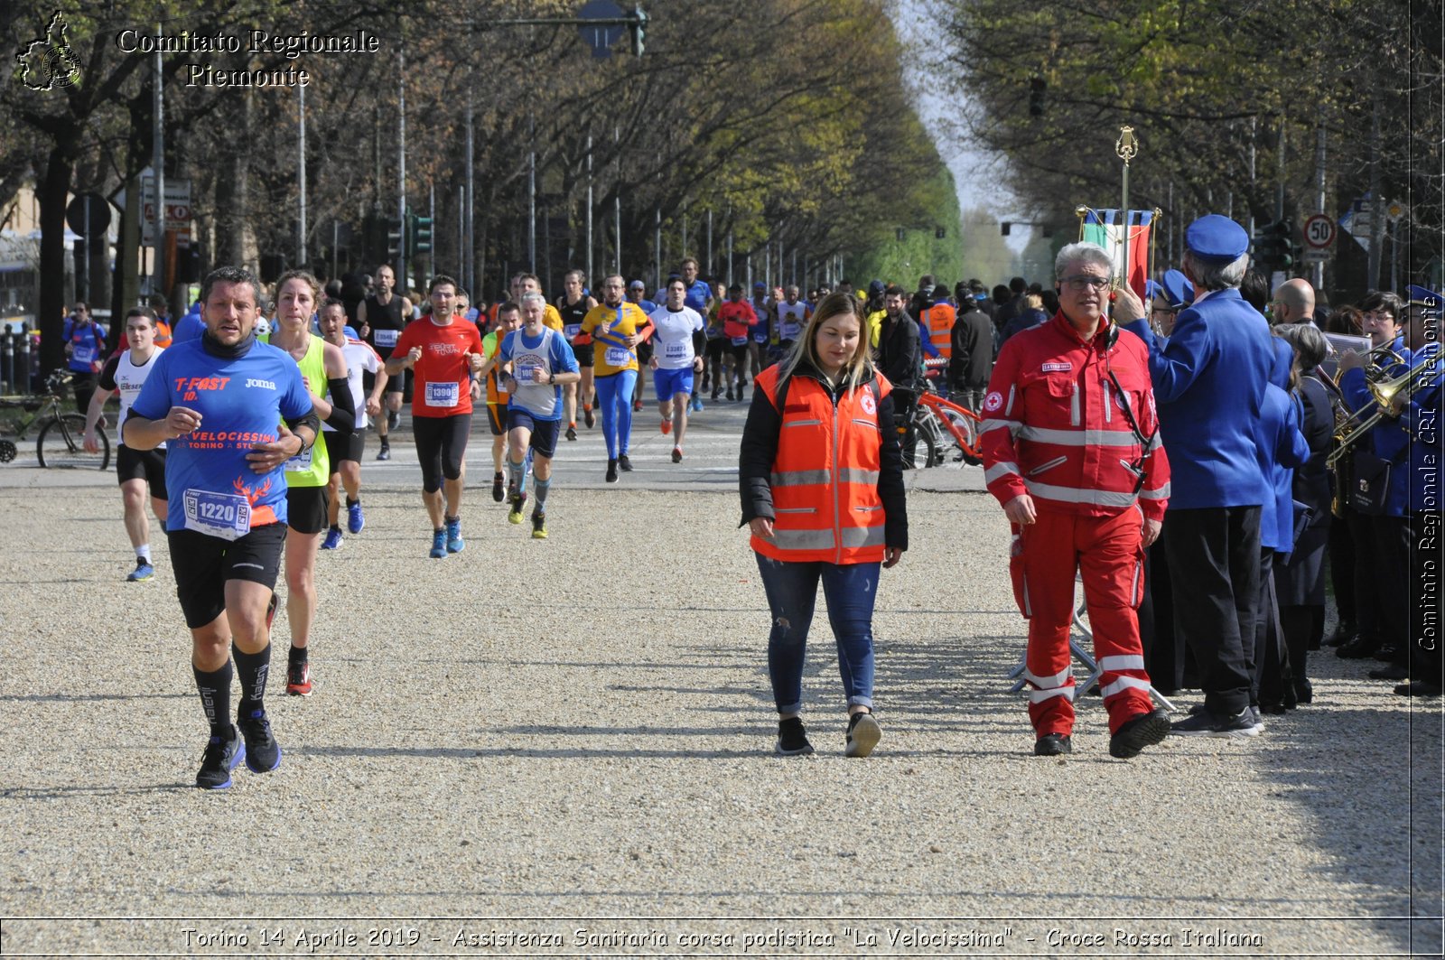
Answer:
[{"label": "leftmost runner, in white t-shirt, black shorts and white shoes", "polygon": [[[147,308],[126,314],[126,343],[130,350],[113,356],[101,369],[95,392],[85,411],[85,450],[95,453],[95,427],[100,424],[105,400],[120,393],[120,419],[116,437],[123,437],[121,424],[130,415],[130,405],[140,396],[140,386],[156,367],[156,357],[165,350],[156,346],[156,318]],[[136,551],[136,568],[126,575],[131,583],[156,575],[150,562],[150,522],[146,519],[146,487],[150,487],[150,509],[166,526],[166,445],[155,450],[131,450],[123,441],[116,448],[116,476],[120,479],[120,500],[126,510],[126,533]]]}]

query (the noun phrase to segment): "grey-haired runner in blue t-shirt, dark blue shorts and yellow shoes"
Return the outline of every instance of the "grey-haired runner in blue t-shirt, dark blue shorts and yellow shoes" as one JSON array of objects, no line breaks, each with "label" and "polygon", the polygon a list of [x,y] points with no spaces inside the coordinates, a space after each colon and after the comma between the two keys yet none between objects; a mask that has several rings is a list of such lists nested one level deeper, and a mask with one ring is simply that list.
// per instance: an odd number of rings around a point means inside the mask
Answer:
[{"label": "grey-haired runner in blue t-shirt, dark blue shorts and yellow shoes", "polygon": [[507,387],[507,500],[512,505],[507,520],[512,523],[522,522],[522,505],[527,500],[527,492],[522,489],[523,458],[527,448],[532,450],[535,539],[546,538],[546,494],[552,486],[552,455],[562,427],[561,387],[582,379],[572,346],[562,334],[542,324],[545,311],[546,299],[540,293],[523,293],[522,330],[509,333],[501,348],[477,374],[478,379],[484,377],[487,366],[497,363]]}]

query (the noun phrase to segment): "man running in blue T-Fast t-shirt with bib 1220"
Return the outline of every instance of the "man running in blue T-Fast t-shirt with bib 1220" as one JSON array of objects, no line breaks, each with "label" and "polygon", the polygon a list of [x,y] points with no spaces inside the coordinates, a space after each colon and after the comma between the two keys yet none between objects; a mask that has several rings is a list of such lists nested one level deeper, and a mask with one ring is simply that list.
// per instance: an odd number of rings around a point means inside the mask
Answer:
[{"label": "man running in blue T-Fast t-shirt with bib 1220", "polygon": [[[321,429],[296,361],[256,341],[259,299],[260,283],[246,270],[207,276],[205,334],[160,354],[123,428],[133,450],[168,447],[171,565],[211,724],[195,784],[208,789],[230,787],[241,759],[257,773],[280,763],[264,695],[267,603],[286,541],[283,466]],[[230,717],[233,672],[240,734]]]}]

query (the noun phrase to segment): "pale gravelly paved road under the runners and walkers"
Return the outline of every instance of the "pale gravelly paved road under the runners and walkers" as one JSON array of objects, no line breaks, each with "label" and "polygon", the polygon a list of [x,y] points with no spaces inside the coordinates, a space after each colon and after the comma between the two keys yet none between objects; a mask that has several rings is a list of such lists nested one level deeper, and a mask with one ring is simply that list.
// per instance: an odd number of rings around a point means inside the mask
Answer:
[{"label": "pale gravelly paved road under the runners and walkers", "polygon": [[0,951],[1439,950],[1439,706],[1327,655],[1316,704],[1257,742],[1111,760],[1085,700],[1074,756],[1033,758],[977,468],[913,479],[877,753],[841,756],[819,614],[819,752],[772,756],[741,416],[709,405],[682,468],[642,418],[605,489],[584,434],[548,541],[478,489],[445,561],[406,447],[368,464],[367,531],[319,564],[316,694],[270,697],[282,768],[224,794],[188,787],[204,726],[163,542],[156,581],[124,584],[110,476],[0,467]]}]

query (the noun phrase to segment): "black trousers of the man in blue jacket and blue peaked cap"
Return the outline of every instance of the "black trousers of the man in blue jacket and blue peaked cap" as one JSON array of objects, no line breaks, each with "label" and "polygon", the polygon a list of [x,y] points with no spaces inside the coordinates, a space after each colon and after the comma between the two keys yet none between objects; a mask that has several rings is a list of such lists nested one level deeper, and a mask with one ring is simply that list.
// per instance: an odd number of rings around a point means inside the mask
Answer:
[{"label": "black trousers of the man in blue jacket and blue peaked cap", "polygon": [[1163,528],[1175,630],[1194,651],[1204,706],[1234,716],[1250,706],[1260,581],[1260,507],[1169,510]]}]

